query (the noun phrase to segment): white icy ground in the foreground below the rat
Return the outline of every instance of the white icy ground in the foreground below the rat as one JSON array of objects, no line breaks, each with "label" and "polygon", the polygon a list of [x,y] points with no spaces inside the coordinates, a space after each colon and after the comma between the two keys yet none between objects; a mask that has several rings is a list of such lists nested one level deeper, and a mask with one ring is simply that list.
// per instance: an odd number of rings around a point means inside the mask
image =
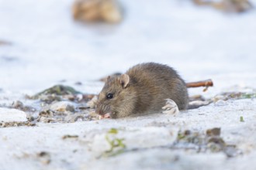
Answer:
[{"label": "white icy ground in the foreground below the rat", "polygon": [[[229,100],[177,116],[152,114],[119,120],[40,124],[38,127],[0,129],[1,169],[251,169],[256,158],[256,100]],[[240,122],[240,116],[244,122]],[[121,155],[99,157],[109,150],[107,131],[119,129],[127,151]],[[227,158],[220,153],[195,153],[168,146],[179,129],[206,131],[221,128],[227,144],[237,145],[241,155]],[[64,135],[78,135],[66,138]],[[154,148],[155,147],[155,148]],[[46,151],[49,165],[37,155]]]}]

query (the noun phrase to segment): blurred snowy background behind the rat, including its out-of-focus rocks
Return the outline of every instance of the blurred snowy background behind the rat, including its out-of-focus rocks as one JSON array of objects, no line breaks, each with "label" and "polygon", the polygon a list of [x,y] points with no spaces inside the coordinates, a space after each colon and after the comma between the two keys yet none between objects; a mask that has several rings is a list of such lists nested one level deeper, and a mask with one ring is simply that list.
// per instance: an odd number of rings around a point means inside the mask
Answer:
[{"label": "blurred snowy background behind the rat, including its out-of-focus rocks", "polygon": [[98,93],[100,78],[143,62],[217,91],[256,87],[255,0],[105,1],[0,0],[0,89]]}]

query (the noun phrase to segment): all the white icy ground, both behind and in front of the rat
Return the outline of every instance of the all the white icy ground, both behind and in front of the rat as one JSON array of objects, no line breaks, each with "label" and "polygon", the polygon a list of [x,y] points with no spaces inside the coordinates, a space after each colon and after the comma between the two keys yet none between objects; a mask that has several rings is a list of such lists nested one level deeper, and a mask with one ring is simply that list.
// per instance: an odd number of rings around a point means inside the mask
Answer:
[{"label": "all the white icy ground, both behind and in front of the rat", "polygon": [[[0,46],[1,104],[16,99],[29,103],[22,94],[61,80],[85,93],[98,93],[102,83],[95,80],[149,61],[173,66],[188,82],[213,79],[215,87],[206,93],[189,90],[191,95],[213,97],[256,87],[256,10],[237,15],[185,0],[122,0],[123,22],[99,27],[73,22],[72,2],[0,0],[0,40],[12,42]],[[83,86],[74,86],[77,81]],[[1,128],[0,169],[254,169],[255,119],[255,100],[247,99],[183,111],[176,117],[155,114]],[[171,145],[179,129],[218,127],[242,155],[227,158],[223,153],[151,148]],[[149,149],[98,158],[109,147],[105,136],[110,128],[121,129],[117,135],[125,138],[127,148]],[[66,134],[78,138],[63,140]],[[47,156],[36,156],[41,151],[49,153],[49,165]]]}]

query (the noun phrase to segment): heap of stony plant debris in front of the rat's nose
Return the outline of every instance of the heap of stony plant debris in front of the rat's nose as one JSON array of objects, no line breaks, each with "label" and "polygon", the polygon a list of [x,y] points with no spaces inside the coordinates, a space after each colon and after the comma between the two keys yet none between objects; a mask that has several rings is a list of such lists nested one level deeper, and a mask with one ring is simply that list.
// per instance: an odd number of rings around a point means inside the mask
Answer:
[{"label": "heap of stony plant debris in front of the rat's nose", "polygon": [[29,100],[36,100],[35,104],[39,105],[37,110],[32,107],[24,107],[24,104],[19,100],[13,102],[12,107],[26,111],[28,120],[33,123],[72,123],[75,121],[92,121],[97,118],[90,114],[93,110],[87,104],[95,95],[82,94],[72,87],[56,85],[36,93],[33,97],[26,97]]}]

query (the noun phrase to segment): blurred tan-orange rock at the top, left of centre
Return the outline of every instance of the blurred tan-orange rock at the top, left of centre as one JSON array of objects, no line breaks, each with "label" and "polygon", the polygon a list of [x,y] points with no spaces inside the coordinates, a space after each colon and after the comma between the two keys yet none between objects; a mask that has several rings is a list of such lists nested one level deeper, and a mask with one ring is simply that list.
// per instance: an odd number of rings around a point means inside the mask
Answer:
[{"label": "blurred tan-orange rock at the top, left of centre", "polygon": [[76,0],[72,12],[74,19],[83,22],[117,23],[122,20],[116,0]]}]

